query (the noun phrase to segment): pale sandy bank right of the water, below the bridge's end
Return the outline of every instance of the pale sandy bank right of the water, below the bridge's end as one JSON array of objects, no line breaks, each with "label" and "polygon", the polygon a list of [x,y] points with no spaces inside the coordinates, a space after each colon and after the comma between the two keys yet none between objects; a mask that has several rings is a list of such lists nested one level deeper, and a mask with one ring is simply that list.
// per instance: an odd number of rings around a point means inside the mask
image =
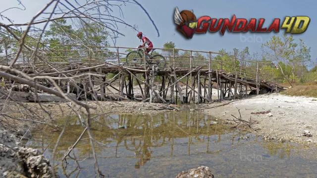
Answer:
[{"label": "pale sandy bank right of the water, below the bridge's end", "polygon": [[[217,105],[220,104],[208,104],[208,107]],[[271,93],[202,111],[228,122],[227,119],[233,119],[231,115],[239,117],[237,108],[243,119],[249,120],[251,117],[257,121],[252,127],[265,138],[317,146],[316,98]]]}]

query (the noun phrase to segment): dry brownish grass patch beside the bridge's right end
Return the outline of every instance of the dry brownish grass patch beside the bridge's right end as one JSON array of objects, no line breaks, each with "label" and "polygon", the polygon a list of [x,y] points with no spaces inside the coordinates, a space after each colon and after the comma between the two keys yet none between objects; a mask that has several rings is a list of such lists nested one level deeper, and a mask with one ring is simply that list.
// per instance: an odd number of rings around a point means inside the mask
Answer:
[{"label": "dry brownish grass patch beside the bridge's right end", "polygon": [[313,84],[303,84],[296,85],[293,88],[282,91],[281,94],[290,95],[290,96],[309,96],[317,98],[317,85]]}]

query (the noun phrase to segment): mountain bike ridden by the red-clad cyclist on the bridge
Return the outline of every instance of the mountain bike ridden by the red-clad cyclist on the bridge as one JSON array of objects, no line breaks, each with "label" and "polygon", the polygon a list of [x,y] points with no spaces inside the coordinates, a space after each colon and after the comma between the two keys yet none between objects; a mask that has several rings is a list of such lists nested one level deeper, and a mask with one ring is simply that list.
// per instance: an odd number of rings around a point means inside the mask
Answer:
[{"label": "mountain bike ridden by the red-clad cyclist on the bridge", "polygon": [[[141,66],[142,64],[144,64],[144,56],[142,54],[143,51],[142,51],[143,48],[138,48],[137,50],[134,50],[134,51],[131,51],[127,54],[126,56],[126,64],[128,65],[135,65],[135,66]],[[151,56],[152,56],[152,53],[155,49],[151,49]],[[162,67],[162,68],[165,68],[166,67],[166,59],[164,56],[160,55],[160,54],[156,54],[153,57],[153,59],[149,59],[149,57],[147,55],[145,55],[146,57],[146,64],[147,65],[156,65],[156,66],[159,66],[159,67]]]}]

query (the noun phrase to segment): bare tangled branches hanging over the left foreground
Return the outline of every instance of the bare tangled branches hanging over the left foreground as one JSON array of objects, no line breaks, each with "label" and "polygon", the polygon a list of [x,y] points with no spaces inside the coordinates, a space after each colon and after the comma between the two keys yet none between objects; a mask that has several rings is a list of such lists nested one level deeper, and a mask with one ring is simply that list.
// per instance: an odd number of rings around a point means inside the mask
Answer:
[{"label": "bare tangled branches hanging over the left foreground", "polygon": [[[99,90],[105,91],[106,88],[101,86],[105,86],[105,84],[111,86],[111,83],[119,76],[116,75],[106,80],[107,75],[102,73],[105,63],[91,67],[90,62],[85,60],[94,60],[96,57],[98,59],[119,57],[119,51],[113,53],[105,47],[108,45],[107,37],[111,38],[115,44],[116,38],[124,36],[119,31],[119,24],[137,30],[135,25],[129,24],[121,18],[122,5],[136,3],[150,19],[151,17],[136,0],[50,0],[29,22],[15,23],[14,19],[5,16],[4,13],[12,10],[25,10],[22,2],[17,1],[19,7],[0,9],[0,17],[3,20],[0,22],[0,127],[20,132],[19,126],[14,122],[24,121],[48,125],[56,131],[61,129],[60,126],[51,123],[56,120],[54,118],[56,115],[49,110],[49,105],[41,102],[38,102],[37,105],[20,102],[20,98],[17,98],[12,91],[15,85],[31,87],[36,102],[41,93],[50,93],[63,98],[69,102],[67,107],[70,108],[70,111],[75,112],[80,118],[83,133],[89,134],[95,159],[95,172],[97,176],[103,176],[94,148],[98,141],[90,132],[93,119],[91,110],[96,107],[85,101],[87,99],[98,100],[96,86],[99,87]],[[154,22],[153,25],[158,31]],[[72,44],[72,46],[67,44]],[[97,48],[96,46],[104,47]],[[77,58],[81,61],[78,65],[78,63],[70,63],[69,57],[71,56],[84,57]],[[68,71],[65,72],[65,70]],[[75,93],[76,98],[70,97],[69,93]],[[103,100],[108,100],[105,95],[101,97]],[[73,112],[64,113],[64,109],[60,108],[62,117],[73,114]],[[28,128],[30,129],[30,127]],[[59,138],[64,130],[65,127]],[[24,134],[22,133],[22,135]],[[78,138],[78,141],[80,139],[81,137]],[[73,147],[78,141],[74,143]],[[54,152],[57,145],[58,141]],[[70,155],[72,149],[65,157]],[[53,153],[53,164],[54,161]],[[79,165],[78,167],[80,168]],[[54,172],[54,170],[52,171]]]}]

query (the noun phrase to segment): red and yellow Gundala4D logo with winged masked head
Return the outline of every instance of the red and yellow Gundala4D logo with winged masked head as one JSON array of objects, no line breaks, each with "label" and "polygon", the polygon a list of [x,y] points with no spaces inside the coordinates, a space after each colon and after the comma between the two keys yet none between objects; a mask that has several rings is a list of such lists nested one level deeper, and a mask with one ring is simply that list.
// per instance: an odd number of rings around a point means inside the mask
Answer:
[{"label": "red and yellow Gundala4D logo with winged masked head", "polygon": [[245,18],[236,18],[234,14],[231,21],[228,18],[211,18],[209,16],[202,16],[196,19],[196,16],[192,11],[183,10],[179,12],[178,7],[176,7],[174,12],[174,22],[177,25],[177,30],[183,34],[187,39],[191,39],[194,33],[211,33],[218,32],[220,30],[223,36],[225,31],[228,32],[252,32],[252,33],[270,33],[272,31],[279,32],[281,29],[286,29],[285,33],[301,34],[304,33],[311,19],[308,16],[296,16],[289,17],[286,16],[284,22],[280,26],[280,19],[275,18],[273,22],[268,27],[263,27],[264,18],[260,18],[259,21],[255,18],[251,18],[248,21]]}]

